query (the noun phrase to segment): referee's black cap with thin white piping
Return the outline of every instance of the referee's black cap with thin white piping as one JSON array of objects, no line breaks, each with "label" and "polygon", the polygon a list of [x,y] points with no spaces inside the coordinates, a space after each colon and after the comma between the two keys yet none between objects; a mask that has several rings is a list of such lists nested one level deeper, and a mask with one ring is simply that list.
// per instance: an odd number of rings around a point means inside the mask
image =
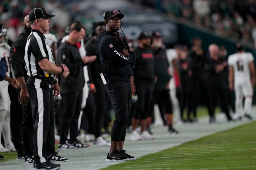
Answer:
[{"label": "referee's black cap with thin white piping", "polygon": [[52,18],[55,15],[50,15],[45,8],[34,8],[31,10],[28,14],[28,20],[30,21],[35,21],[36,19],[39,18]]}]

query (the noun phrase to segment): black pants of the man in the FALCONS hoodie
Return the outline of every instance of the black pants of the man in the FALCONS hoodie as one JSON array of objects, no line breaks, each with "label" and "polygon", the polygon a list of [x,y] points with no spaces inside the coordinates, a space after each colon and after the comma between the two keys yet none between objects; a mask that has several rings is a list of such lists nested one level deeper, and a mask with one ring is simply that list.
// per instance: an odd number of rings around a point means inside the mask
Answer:
[{"label": "black pants of the man in the FALCONS hoodie", "polygon": [[124,141],[132,104],[131,82],[109,82],[105,88],[116,114],[111,131],[111,141]]}]

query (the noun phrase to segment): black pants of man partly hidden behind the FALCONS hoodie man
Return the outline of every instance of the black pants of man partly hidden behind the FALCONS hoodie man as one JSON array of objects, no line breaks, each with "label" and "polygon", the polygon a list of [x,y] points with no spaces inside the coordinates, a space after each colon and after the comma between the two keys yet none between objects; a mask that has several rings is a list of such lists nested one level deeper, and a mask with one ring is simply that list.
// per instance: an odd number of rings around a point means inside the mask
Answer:
[{"label": "black pants of man partly hidden behind the FALCONS hoodie man", "polygon": [[94,85],[97,92],[95,97],[95,115],[94,115],[94,132],[95,137],[101,136],[101,129],[103,126],[104,115],[106,114],[106,90],[101,79],[96,79]]}]

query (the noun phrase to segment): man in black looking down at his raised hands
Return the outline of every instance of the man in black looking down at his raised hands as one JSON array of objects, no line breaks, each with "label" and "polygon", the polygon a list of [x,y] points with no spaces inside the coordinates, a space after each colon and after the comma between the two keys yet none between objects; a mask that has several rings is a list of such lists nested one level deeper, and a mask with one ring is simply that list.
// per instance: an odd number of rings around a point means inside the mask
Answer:
[{"label": "man in black looking down at his raised hands", "polygon": [[[68,40],[60,45],[58,52],[59,61],[66,64],[70,70],[68,78],[61,80],[63,115],[60,122],[59,148],[64,149],[89,147],[76,139],[85,84],[83,67],[89,62],[88,60],[91,60],[86,56],[82,58],[76,45],[84,35],[85,27],[80,22],[74,22],[70,26]],[[70,142],[68,142],[68,129],[70,129]]]}]

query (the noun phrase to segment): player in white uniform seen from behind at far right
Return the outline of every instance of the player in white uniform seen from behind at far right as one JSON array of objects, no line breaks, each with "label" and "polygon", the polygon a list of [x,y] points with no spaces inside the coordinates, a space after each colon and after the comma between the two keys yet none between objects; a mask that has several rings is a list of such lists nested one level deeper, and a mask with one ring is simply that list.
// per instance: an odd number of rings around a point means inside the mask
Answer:
[{"label": "player in white uniform seen from behind at far right", "polygon": [[[246,53],[243,46],[236,45],[236,53],[228,57],[229,65],[229,89],[235,90],[236,94],[236,115],[242,119],[242,115],[252,119],[250,115],[252,107],[253,88],[255,85],[255,66],[252,53]],[[243,98],[244,110],[243,110]]]}]

